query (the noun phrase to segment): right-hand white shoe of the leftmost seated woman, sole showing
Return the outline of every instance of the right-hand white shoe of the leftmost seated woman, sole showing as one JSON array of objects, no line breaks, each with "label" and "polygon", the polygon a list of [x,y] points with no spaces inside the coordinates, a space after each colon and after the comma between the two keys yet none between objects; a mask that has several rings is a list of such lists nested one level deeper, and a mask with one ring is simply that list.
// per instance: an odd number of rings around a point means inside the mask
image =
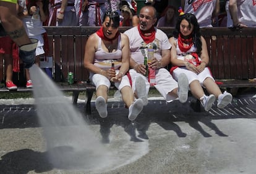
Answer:
[{"label": "right-hand white shoe of the leftmost seated woman, sole showing", "polygon": [[137,116],[140,114],[142,109],[143,109],[143,101],[141,98],[138,98],[137,100],[134,101],[134,104],[130,105],[129,107],[128,119],[130,121],[134,121],[137,118]]}]

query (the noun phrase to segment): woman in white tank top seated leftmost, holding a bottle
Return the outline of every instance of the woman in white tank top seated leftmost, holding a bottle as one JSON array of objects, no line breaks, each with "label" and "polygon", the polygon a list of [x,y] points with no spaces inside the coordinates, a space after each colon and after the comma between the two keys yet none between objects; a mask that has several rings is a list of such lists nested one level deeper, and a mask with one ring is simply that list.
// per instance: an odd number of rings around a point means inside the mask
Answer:
[{"label": "woman in white tank top seated leftmost, holding a bottle", "polygon": [[129,70],[129,39],[119,33],[119,21],[117,12],[105,13],[103,26],[88,38],[85,45],[84,65],[90,71],[90,80],[96,87],[95,106],[100,117],[108,116],[106,103],[113,82],[129,108],[128,119],[134,121],[143,109],[143,101],[134,98],[126,76]]}]

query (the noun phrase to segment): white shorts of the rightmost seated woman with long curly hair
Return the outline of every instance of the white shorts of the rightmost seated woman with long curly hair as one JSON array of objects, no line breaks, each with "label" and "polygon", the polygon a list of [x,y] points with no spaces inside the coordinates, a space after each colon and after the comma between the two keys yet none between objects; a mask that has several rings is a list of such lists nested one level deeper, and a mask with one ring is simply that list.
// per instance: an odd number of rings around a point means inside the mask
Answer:
[{"label": "white shorts of the rightmost seated woman with long curly hair", "polygon": [[[185,68],[185,67],[184,67],[184,68],[176,68],[176,69],[174,69],[174,71],[173,71],[173,77],[174,77],[174,79],[176,79],[176,81],[177,81],[177,77],[178,77],[179,74],[181,74],[181,73],[186,74],[187,79],[189,80],[189,84],[190,84],[192,81],[197,80],[197,81],[200,82],[200,85],[201,85],[202,87],[203,87],[203,81],[205,81],[205,79],[206,79],[207,77],[210,77],[211,79],[213,79],[213,76],[211,76],[211,72],[210,72],[210,70],[209,70],[208,67],[206,67],[205,69],[203,69],[203,71],[202,71],[201,73],[199,73],[199,74],[196,74],[196,73],[190,71],[189,69],[187,69],[187,68]],[[215,81],[215,80],[213,79],[213,81]]]}]

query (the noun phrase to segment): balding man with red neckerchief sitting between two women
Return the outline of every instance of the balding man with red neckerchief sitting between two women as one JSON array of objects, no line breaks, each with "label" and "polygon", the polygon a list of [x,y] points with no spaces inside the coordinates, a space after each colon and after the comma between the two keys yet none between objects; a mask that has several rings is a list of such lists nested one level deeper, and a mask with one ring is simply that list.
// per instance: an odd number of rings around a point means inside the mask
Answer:
[{"label": "balding man with red neckerchief sitting between two women", "polygon": [[[124,32],[130,41],[130,76],[132,79],[132,89],[137,92],[137,97],[142,98],[144,105],[147,105],[147,95],[150,88],[143,60],[145,57],[145,48],[151,47],[155,50],[154,57],[149,63],[149,67],[156,71],[156,89],[161,93],[168,102],[173,101],[177,97],[181,103],[187,101],[188,81],[186,76],[181,76],[179,83],[173,79],[169,71],[164,68],[170,63],[170,50],[168,37],[163,31],[154,27],[156,22],[156,10],[153,6],[144,6],[140,10],[139,25]],[[147,50],[146,50],[147,51]],[[143,79],[147,90],[143,84],[137,85],[139,79]],[[141,87],[142,86],[142,87]],[[138,88],[139,87],[139,88]]]}]

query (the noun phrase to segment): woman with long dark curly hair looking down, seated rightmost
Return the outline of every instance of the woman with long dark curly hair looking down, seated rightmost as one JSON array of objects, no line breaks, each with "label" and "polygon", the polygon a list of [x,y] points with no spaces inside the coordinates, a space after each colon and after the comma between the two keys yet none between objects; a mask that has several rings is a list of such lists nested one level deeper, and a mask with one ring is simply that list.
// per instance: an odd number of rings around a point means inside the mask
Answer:
[{"label": "woman with long dark curly hair looking down, seated rightmost", "polygon": [[[218,108],[224,108],[231,103],[231,93],[222,93],[207,67],[209,56],[207,43],[201,36],[197,18],[193,14],[181,15],[169,38],[171,49],[171,73],[174,79],[180,74],[186,74],[192,95],[201,101],[205,111],[210,111],[215,99]],[[205,95],[203,87],[210,95]]]}]

